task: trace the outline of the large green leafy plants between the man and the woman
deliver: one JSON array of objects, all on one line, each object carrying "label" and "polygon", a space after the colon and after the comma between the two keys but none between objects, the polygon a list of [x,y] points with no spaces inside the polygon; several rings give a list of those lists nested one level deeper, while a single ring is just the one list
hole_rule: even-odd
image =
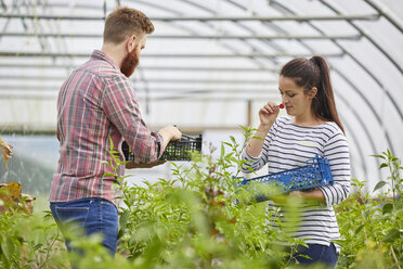
[{"label": "large green leafy plants between the man and the woman", "polygon": [[[246,139],[251,133],[246,129]],[[125,204],[120,214],[119,253],[142,268],[285,268],[292,261],[280,241],[294,246],[301,241],[287,229],[266,228],[264,204],[237,203],[235,189],[243,146],[230,137],[218,159],[193,153],[188,166],[172,163],[174,179],[116,188]],[[112,148],[113,149],[113,148]],[[229,152],[227,152],[229,150]],[[213,149],[210,149],[212,153]],[[110,152],[119,164],[117,156]],[[117,170],[117,169],[115,169]],[[235,171],[235,172],[234,172]],[[112,176],[112,175],[109,175]],[[235,176],[235,177],[234,177]],[[285,203],[294,208],[296,201]],[[294,218],[294,215],[286,216]],[[295,249],[294,249],[295,251]]]}]

